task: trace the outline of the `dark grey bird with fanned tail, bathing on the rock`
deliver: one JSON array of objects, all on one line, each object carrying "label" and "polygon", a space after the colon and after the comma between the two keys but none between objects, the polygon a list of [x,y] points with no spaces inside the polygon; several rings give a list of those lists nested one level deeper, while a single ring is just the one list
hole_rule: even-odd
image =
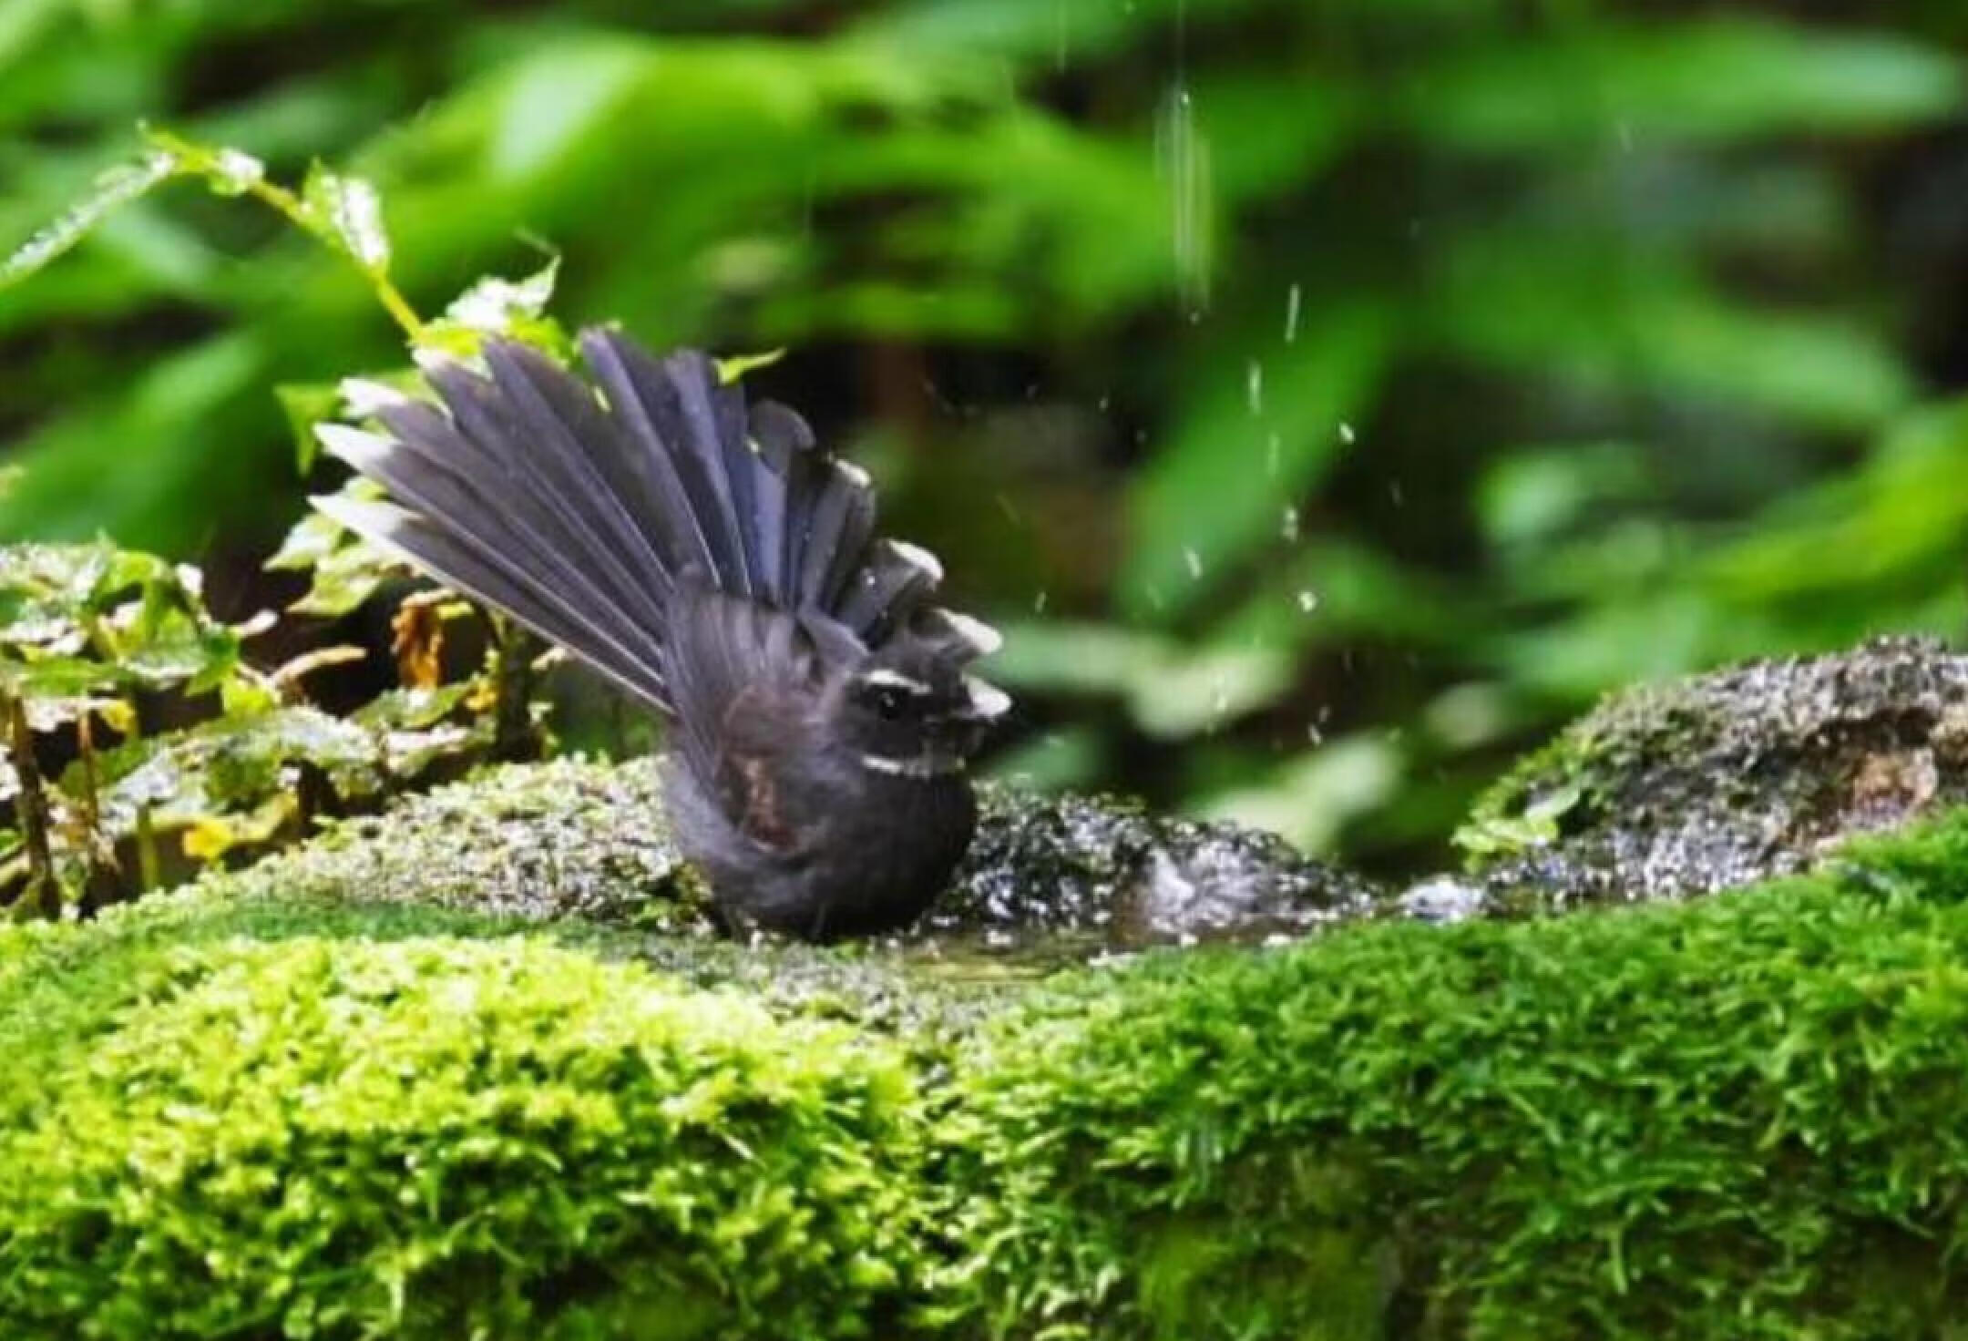
[{"label": "dark grey bird with fanned tail, bathing on the rock", "polygon": [[907,927],[976,827],[1000,634],[937,605],[941,563],[876,534],[868,473],[797,412],[697,349],[577,343],[588,378],[508,339],[419,358],[435,398],[315,427],[386,496],[313,506],[667,721],[669,827],[728,929]]}]

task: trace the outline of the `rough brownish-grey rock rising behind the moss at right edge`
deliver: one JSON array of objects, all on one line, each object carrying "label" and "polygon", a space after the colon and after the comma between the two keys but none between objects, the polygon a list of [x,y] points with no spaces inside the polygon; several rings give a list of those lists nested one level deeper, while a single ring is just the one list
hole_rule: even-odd
[{"label": "rough brownish-grey rock rising behind the moss at right edge", "polygon": [[1460,841],[1480,912],[1555,912],[1797,872],[1962,801],[1968,658],[1879,638],[1618,693],[1492,788]]}]

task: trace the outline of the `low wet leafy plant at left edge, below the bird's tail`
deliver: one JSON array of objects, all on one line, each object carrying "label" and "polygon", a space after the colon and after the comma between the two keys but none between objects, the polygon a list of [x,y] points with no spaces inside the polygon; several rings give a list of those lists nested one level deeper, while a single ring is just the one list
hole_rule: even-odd
[{"label": "low wet leafy plant at left edge, below the bird's tail", "polygon": [[[197,569],[108,542],[0,547],[0,904],[94,906],[492,748],[492,717],[466,711],[474,683],[413,685],[348,721],[297,701],[309,670],[350,650],[258,670],[242,644],[272,622],[216,620]],[[159,703],[177,705],[165,729]],[[49,780],[55,734],[69,762]],[[185,861],[167,868],[161,839]]]}]

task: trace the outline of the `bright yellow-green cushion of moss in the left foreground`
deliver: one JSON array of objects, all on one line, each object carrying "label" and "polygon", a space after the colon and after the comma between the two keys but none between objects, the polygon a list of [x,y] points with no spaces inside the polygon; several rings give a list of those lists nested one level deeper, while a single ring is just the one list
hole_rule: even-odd
[{"label": "bright yellow-green cushion of moss in the left foreground", "polygon": [[901,1284],[909,1079],[840,1026],[527,939],[106,949],[53,1016],[0,969],[10,1333],[834,1337]]}]

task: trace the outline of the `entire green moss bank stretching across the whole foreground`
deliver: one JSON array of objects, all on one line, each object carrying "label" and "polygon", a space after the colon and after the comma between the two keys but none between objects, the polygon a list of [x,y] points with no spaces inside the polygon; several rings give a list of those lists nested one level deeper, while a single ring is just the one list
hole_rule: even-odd
[{"label": "entire green moss bank stretching across the whole foreground", "polygon": [[516,926],[236,878],[0,931],[0,1335],[1915,1341],[1968,1308],[1968,811],[1685,906],[1078,971],[937,1046]]}]

